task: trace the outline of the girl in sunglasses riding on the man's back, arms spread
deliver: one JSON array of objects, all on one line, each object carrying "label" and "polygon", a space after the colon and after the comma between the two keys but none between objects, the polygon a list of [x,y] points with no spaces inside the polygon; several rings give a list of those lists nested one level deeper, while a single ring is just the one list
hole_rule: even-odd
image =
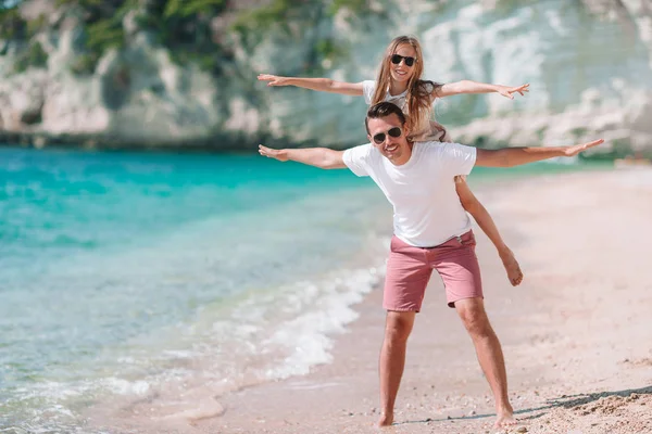
[{"label": "girl in sunglasses riding on the man's back, arms spread", "polygon": [[[486,85],[471,80],[441,85],[422,80],[424,72],[422,49],[414,37],[399,36],[387,47],[385,59],[376,81],[342,82],[328,78],[280,77],[271,74],[260,74],[259,80],[267,81],[267,86],[297,86],[305,89],[364,97],[369,105],[381,101],[397,104],[408,115],[408,126],[412,141],[437,140],[450,142],[447,130],[431,120],[432,105],[437,98],[460,93],[498,92],[503,97],[514,99],[513,93],[524,94],[529,85],[506,87]],[[464,209],[473,216],[480,229],[498,250],[507,278],[512,285],[523,280],[518,261],[512,251],[502,240],[493,219],[473,194],[464,177],[455,177],[455,187]]]}]

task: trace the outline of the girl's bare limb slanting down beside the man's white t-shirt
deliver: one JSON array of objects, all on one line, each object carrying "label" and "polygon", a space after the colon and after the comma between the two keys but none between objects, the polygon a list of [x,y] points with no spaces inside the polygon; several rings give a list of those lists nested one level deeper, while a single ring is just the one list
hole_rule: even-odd
[{"label": "girl's bare limb slanting down beside the man's white t-shirt", "polygon": [[514,253],[512,253],[500,235],[487,208],[485,208],[475,194],[473,194],[463,177],[455,177],[455,189],[464,209],[473,216],[482,232],[487,234],[489,240],[491,240],[496,246],[498,255],[507,271],[510,283],[512,283],[513,286],[521,284],[523,281],[523,272],[521,271],[518,261],[516,260],[516,257],[514,257]]}]

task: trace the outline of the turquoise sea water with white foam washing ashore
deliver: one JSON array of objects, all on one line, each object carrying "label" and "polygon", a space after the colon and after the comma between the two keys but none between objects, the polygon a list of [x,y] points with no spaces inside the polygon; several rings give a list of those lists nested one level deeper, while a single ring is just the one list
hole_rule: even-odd
[{"label": "turquoise sea water with white foam washing ashore", "polygon": [[0,148],[0,432],[90,432],[86,409],[115,396],[218,395],[328,362],[390,230],[348,170]]}]

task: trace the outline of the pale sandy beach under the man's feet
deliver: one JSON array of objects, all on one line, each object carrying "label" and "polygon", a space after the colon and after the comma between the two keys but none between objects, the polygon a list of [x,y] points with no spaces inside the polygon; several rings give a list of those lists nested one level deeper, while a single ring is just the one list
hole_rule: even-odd
[{"label": "pale sandy beach under the man's feet", "polygon": [[[489,240],[475,229],[486,304],[523,422],[510,432],[652,433],[652,169],[472,187],[525,273],[512,288]],[[360,319],[337,336],[333,363],[215,397],[223,413],[193,423],[138,416],[149,414],[148,401],[136,403],[120,412],[130,416],[120,430],[379,432],[380,298],[377,289],[358,306]],[[471,340],[435,277],[409,343],[397,423],[380,432],[500,432],[493,418]]]}]

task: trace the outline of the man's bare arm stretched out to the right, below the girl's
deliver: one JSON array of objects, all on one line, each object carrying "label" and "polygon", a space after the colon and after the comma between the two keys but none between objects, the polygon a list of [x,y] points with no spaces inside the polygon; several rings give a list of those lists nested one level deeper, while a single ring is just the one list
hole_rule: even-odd
[{"label": "man's bare arm stretched out to the right, below the girl's", "polygon": [[513,167],[553,158],[555,156],[575,156],[580,152],[603,142],[604,140],[600,139],[570,146],[503,148],[499,150],[478,149],[476,154],[476,166]]}]

